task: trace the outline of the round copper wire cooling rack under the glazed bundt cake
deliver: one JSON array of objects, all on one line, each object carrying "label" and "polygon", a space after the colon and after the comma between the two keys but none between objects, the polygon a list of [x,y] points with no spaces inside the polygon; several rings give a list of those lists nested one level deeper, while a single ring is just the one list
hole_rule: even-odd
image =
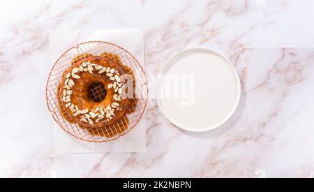
[{"label": "round copper wire cooling rack under the glazed bundt cake", "polygon": [[[59,109],[59,103],[57,99],[57,89],[61,82],[63,72],[68,67],[70,67],[73,59],[77,58],[77,56],[80,55],[82,55],[84,58],[84,55],[87,54],[100,55],[104,52],[110,53],[108,54],[109,57],[111,54],[119,56],[122,63],[133,70],[136,80],[135,94],[137,98],[137,105],[133,106],[134,109],[132,111],[134,112],[127,115],[129,121],[128,128],[126,128],[126,130],[119,135],[114,135],[110,138],[100,136],[108,134],[91,134],[89,133],[89,131],[87,131],[87,129],[80,128],[79,126],[77,126],[77,124],[68,123],[68,121],[66,121],[66,119],[64,119],[61,115],[61,110]],[[116,60],[117,58],[110,57],[110,59]],[[52,117],[57,122],[57,124],[59,124],[59,126],[63,128],[64,131],[66,131],[70,135],[73,135],[75,138],[79,138],[80,140],[85,140],[89,142],[107,142],[110,140],[115,140],[119,138],[119,136],[128,133],[128,131],[134,128],[142,118],[142,115],[147,105],[147,95],[148,87],[146,76],[142,66],[140,66],[135,57],[133,57],[133,55],[130,54],[128,51],[124,50],[124,48],[103,41],[89,41],[85,43],[80,43],[77,46],[72,47],[64,52],[52,67],[46,86],[46,99],[48,109],[50,110],[50,112],[52,112]],[[124,125],[117,124],[113,127],[107,128],[106,131],[111,131],[111,133],[114,133],[114,130],[117,131],[117,129],[123,128],[123,126]],[[100,131],[103,130],[100,129]]]}]

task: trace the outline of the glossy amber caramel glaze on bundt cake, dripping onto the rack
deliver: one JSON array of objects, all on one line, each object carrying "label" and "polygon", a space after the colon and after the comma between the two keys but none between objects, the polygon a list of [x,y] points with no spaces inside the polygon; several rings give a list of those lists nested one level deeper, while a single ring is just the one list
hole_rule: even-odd
[{"label": "glossy amber caramel glaze on bundt cake, dripping onto the rack", "polygon": [[[59,101],[59,109],[61,115],[66,121],[69,123],[76,123],[80,128],[85,128],[91,135],[100,135],[106,138],[112,138],[114,135],[118,135],[126,131],[129,125],[129,119],[126,117],[127,114],[135,112],[137,105],[137,98],[135,98],[135,91],[133,94],[133,98],[126,98],[122,101],[119,101],[120,107],[122,110],[115,111],[114,117],[110,121],[99,121],[93,125],[84,123],[80,121],[79,117],[75,117],[72,115],[72,112],[68,108],[65,107],[65,103],[61,101],[63,85],[66,80],[66,74],[71,72],[73,68],[76,68],[82,64],[83,61],[90,61],[93,64],[98,64],[100,66],[116,68],[120,75],[128,73],[133,77],[133,90],[135,90],[135,77],[131,68],[125,66],[120,57],[116,54],[111,54],[108,52],[103,52],[99,56],[93,56],[92,54],[80,54],[71,62],[71,66],[63,73],[63,77],[61,83],[58,87],[58,101]],[[89,99],[89,90],[88,87],[92,83],[100,83],[107,87],[107,84],[110,83],[109,77],[105,75],[105,73],[98,74],[94,71],[93,74],[89,72],[80,73],[80,79],[74,80],[75,85],[73,86],[73,94],[71,96],[71,103],[77,105],[80,109],[89,109],[90,111],[96,110],[96,108],[103,106],[104,108],[107,105],[111,105],[114,101],[113,99],[113,90],[107,89],[107,94],[105,99],[100,102],[94,102]],[[127,92],[128,90],[126,90]]]}]

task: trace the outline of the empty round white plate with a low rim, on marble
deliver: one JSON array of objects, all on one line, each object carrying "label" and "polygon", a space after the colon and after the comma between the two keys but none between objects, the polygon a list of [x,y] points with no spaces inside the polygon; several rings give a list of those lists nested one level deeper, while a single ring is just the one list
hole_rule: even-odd
[{"label": "empty round white plate with a low rim, on marble", "polygon": [[209,131],[225,123],[239,104],[241,84],[233,64],[208,48],[174,54],[160,70],[158,105],[172,124]]}]

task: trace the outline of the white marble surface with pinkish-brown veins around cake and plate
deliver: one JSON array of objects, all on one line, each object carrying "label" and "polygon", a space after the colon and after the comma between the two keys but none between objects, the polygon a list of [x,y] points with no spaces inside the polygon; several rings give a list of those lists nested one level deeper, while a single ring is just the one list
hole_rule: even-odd
[{"label": "white marble surface with pinkish-brown veins around cake and plate", "polygon": [[[314,1],[1,0],[0,10],[1,177],[313,177]],[[174,52],[223,52],[243,86],[232,119],[186,133],[152,98],[147,152],[56,154],[45,103],[48,34],[114,28],[144,29],[151,95]]]}]

